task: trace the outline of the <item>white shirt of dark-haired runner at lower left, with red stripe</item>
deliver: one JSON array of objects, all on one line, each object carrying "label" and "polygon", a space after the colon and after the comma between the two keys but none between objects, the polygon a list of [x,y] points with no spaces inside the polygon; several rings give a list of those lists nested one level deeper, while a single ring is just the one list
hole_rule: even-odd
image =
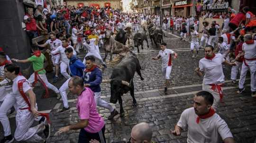
[{"label": "white shirt of dark-haired runner at lower left, with red stripe", "polygon": [[[18,104],[18,108],[27,108],[28,107],[27,102],[23,99],[23,97],[21,96],[21,94],[19,93],[19,90],[18,90],[18,81],[22,80],[22,79],[26,79],[26,78],[24,76],[17,76],[12,80],[13,81],[12,91],[13,91],[13,96],[15,97],[16,102]],[[27,79],[26,79],[26,81],[27,81]],[[23,83],[23,92],[26,93],[29,89],[31,89],[31,87],[29,86],[28,81],[24,82]]]}]

